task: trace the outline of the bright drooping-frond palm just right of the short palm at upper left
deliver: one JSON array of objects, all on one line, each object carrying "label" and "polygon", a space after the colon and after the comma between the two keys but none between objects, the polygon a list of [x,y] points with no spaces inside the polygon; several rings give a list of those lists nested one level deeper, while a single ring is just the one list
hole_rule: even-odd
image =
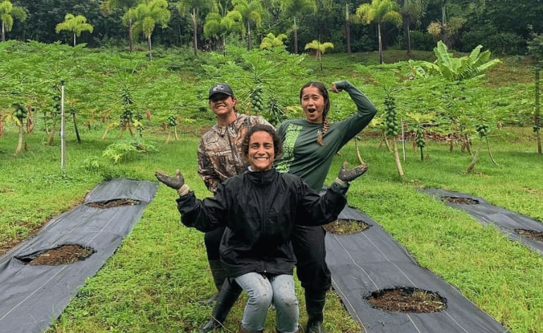
[{"label": "bright drooping-frond palm just right of the short palm at upper left", "polygon": [[171,19],[171,13],[168,10],[168,1],[166,0],[151,0],[148,2],[142,2],[133,10],[130,9],[126,13],[126,19],[134,20],[134,29],[138,32],[143,32],[145,38],[147,38],[147,45],[149,46],[149,60],[153,60],[152,56],[152,43],[151,34],[154,30],[154,26],[161,25],[164,29],[168,27],[168,23]]}]

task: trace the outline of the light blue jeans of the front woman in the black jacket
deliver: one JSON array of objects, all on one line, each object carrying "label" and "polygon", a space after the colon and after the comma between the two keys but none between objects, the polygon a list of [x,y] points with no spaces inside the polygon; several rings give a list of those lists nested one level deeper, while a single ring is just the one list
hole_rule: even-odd
[{"label": "light blue jeans of the front woman in the black jacket", "polygon": [[298,330],[300,310],[292,275],[266,277],[260,273],[250,272],[236,277],[236,282],[248,296],[241,320],[244,329],[249,332],[262,331],[268,308],[273,302],[277,314],[277,331],[294,333]]}]

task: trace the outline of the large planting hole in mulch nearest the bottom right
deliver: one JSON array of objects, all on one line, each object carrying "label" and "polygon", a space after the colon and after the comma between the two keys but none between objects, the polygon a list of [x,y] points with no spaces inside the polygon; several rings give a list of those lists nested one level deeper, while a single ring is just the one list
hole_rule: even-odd
[{"label": "large planting hole in mulch nearest the bottom right", "polygon": [[437,292],[413,287],[382,289],[365,299],[373,308],[401,313],[432,313],[447,307],[446,299]]}]

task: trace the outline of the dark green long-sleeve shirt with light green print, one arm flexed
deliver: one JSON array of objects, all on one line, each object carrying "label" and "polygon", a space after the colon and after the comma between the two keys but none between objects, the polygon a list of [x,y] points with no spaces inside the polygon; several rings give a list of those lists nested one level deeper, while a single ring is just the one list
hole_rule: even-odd
[{"label": "dark green long-sleeve shirt with light green print, one arm flexed", "polygon": [[377,113],[373,103],[350,82],[338,81],[336,87],[349,94],[357,112],[330,125],[322,137],[324,146],[317,143],[322,124],[313,124],[305,119],[286,120],[277,130],[283,141],[283,155],[276,163],[276,169],[302,177],[315,191],[322,189],[334,155]]}]

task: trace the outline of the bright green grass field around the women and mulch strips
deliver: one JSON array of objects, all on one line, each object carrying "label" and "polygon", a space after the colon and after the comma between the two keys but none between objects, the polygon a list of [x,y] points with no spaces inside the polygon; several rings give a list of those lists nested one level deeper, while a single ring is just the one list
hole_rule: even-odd
[{"label": "bright green grass field around the women and mulch strips", "polygon": [[[315,70],[315,80],[330,82],[331,77],[348,77],[353,74],[348,63],[360,56],[325,57],[324,68],[330,68],[331,73]],[[368,61],[374,61],[374,55],[369,56],[372,58]],[[317,68],[317,63],[312,63],[315,59],[307,61],[311,61],[308,66]],[[507,77],[506,82],[529,82],[527,65],[503,66],[496,72]],[[489,79],[495,87],[507,85],[499,75]],[[156,151],[128,153],[119,163],[102,154],[111,144],[130,144],[128,133],[119,140],[118,131],[111,130],[102,139],[104,127],[84,127],[82,142],[78,143],[73,128],[68,128],[66,168],[62,170],[58,137],[47,146],[44,142],[48,135],[37,128],[25,137],[28,150],[14,156],[17,133],[13,125],[6,125],[0,137],[0,251],[4,253],[49,218],[83,201],[87,191],[104,179],[154,180],[154,170],[173,172],[179,168],[197,196],[208,196],[196,173],[197,142],[207,126],[209,122],[185,124],[178,129],[180,139],[171,139],[169,144],[166,132],[147,130],[143,142]],[[509,241],[496,227],[483,227],[467,213],[418,191],[437,187],[473,194],[542,222],[543,156],[536,153],[531,126],[492,130],[489,142],[499,165],[494,165],[483,149],[475,172],[469,174],[465,169],[472,156],[461,152],[459,146],[449,151],[445,142],[428,142],[427,158],[420,161],[418,151],[413,151],[408,142],[403,161],[405,182],[398,177],[393,154],[374,131],[362,135],[360,153],[370,169],[353,182],[348,194],[350,205],[379,222],[422,267],[458,287],[512,333],[543,332],[542,256]],[[357,163],[353,143],[336,156],[327,183],[334,179],[343,160]],[[181,225],[175,198],[174,191],[159,187],[133,231],[98,274],[87,280],[49,333],[197,331],[211,312],[197,300],[212,294],[214,287],[203,236]],[[298,295],[300,319],[305,323],[299,285]],[[244,303],[245,298],[240,299],[228,316],[228,332],[237,332]],[[325,317],[329,333],[360,332],[333,291],[327,296]],[[274,332],[274,320],[271,311],[267,332]]]}]

